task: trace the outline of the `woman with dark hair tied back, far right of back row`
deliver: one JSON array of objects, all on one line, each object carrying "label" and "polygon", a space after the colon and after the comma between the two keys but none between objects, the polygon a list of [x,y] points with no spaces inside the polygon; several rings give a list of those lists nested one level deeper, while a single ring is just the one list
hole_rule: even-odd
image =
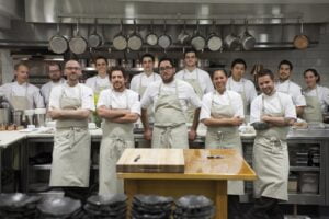
[{"label": "woman with dark hair tied back, far right of back row", "polygon": [[306,100],[303,118],[306,122],[321,123],[322,114],[327,113],[329,105],[329,89],[319,85],[320,74],[316,69],[305,70],[304,80],[307,88],[303,92]]}]

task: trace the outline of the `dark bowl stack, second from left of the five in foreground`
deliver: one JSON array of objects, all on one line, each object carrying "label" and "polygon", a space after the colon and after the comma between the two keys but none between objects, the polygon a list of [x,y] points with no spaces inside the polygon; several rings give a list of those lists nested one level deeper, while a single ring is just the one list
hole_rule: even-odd
[{"label": "dark bowl stack, second from left of the five in foreground", "polygon": [[84,219],[81,201],[69,197],[49,197],[37,205],[42,219]]}]

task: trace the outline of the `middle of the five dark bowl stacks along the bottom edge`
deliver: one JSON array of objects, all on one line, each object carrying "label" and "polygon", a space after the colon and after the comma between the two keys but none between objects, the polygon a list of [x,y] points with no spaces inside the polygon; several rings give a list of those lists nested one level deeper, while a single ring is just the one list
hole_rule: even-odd
[{"label": "middle of the five dark bowl stacks along the bottom edge", "polygon": [[124,194],[94,195],[87,199],[83,209],[92,219],[125,219],[127,196]]}]

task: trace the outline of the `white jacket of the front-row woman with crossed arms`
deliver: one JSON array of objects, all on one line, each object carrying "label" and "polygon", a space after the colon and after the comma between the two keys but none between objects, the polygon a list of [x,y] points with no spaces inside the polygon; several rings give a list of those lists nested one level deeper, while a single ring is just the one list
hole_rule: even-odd
[{"label": "white jacket of the front-row woman with crossed arms", "polygon": [[245,117],[241,95],[235,91],[226,90],[223,94],[209,92],[203,96],[200,120],[212,117],[213,101],[215,105],[231,105],[235,112],[234,116]]}]

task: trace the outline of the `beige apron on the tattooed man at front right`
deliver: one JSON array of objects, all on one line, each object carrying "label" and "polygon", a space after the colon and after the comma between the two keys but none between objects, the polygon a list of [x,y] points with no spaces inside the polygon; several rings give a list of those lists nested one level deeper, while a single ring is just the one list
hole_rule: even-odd
[{"label": "beige apron on the tattooed man at front right", "polygon": [[[274,95],[277,96],[277,93]],[[281,113],[272,113],[270,115],[284,116],[281,101],[280,105]],[[262,114],[264,113],[264,97],[262,96]],[[258,175],[258,180],[253,183],[253,193],[257,198],[264,196],[281,200],[288,199],[290,161],[286,143],[287,132],[288,127],[277,126],[257,131],[252,153],[252,165]]]}]

